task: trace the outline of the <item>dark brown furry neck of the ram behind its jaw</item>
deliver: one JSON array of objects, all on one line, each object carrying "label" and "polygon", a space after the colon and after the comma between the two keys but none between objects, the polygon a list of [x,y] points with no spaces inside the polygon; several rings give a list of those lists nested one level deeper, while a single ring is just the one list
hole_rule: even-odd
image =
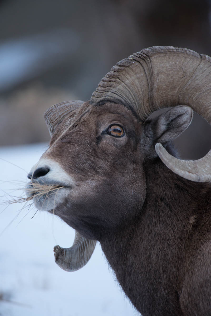
[{"label": "dark brown furry neck of the ram behind its jaw", "polygon": [[148,164],[146,176],[147,196],[139,217],[109,231],[101,246],[143,316],[182,315],[178,298],[184,253],[201,210],[208,207],[204,201],[210,187],[178,177],[161,162]]}]

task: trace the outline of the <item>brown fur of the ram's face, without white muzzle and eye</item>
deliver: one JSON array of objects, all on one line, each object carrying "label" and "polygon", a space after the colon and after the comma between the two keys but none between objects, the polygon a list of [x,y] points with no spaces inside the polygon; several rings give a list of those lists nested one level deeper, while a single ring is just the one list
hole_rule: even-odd
[{"label": "brown fur of the ram's face, without white muzzle and eye", "polygon": [[[85,237],[100,240],[102,229],[134,218],[144,203],[143,127],[115,104],[86,102],[73,114],[57,125],[43,158],[55,160],[75,182],[55,214]],[[122,137],[107,133],[113,124],[124,129]]]}]

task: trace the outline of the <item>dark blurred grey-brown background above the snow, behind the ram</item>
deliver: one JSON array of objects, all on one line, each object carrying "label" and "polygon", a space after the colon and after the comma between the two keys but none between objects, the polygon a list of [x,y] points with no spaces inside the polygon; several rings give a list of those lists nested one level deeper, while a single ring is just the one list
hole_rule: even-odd
[{"label": "dark blurred grey-brown background above the snow, behind the ram", "polygon": [[[172,45],[211,55],[209,0],[1,0],[0,146],[49,140],[44,111],[88,100],[119,60]],[[178,144],[197,159],[211,148],[195,115]]]}]

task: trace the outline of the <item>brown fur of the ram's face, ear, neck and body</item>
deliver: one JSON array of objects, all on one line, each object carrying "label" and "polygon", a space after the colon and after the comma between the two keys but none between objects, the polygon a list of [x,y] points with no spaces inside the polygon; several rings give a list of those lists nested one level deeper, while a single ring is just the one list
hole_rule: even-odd
[{"label": "brown fur of the ram's face, ear, neck and body", "polygon": [[[175,153],[169,141],[191,120],[184,107],[170,111],[144,124],[112,103],[86,102],[69,114],[44,154],[76,183],[54,211],[99,240],[143,316],[211,315],[210,184],[183,179],[158,158],[155,143]],[[107,134],[112,123],[124,137]]]}]

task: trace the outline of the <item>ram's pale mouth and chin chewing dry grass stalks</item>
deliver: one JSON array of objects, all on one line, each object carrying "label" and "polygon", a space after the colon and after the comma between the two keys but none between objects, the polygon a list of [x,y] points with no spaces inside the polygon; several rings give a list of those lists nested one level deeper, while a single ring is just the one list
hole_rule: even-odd
[{"label": "ram's pale mouth and chin chewing dry grass stalks", "polygon": [[33,200],[39,210],[54,209],[67,196],[71,188],[64,183],[30,181],[26,186],[28,200]]}]

